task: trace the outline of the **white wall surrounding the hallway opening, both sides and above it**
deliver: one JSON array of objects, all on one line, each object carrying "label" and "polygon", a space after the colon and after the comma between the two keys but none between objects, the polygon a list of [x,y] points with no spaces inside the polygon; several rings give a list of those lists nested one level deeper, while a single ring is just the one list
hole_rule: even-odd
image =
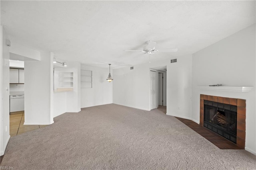
[{"label": "white wall surrounding the hallway opening, both sides and above it", "polygon": [[190,118],[192,56],[170,59],[114,69],[113,103],[150,110],[150,68],[167,65],[166,114]]}]

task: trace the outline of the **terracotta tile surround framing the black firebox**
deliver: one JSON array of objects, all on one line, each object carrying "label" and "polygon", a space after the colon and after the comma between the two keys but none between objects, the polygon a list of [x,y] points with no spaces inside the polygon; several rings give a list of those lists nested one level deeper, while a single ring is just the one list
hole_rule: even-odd
[{"label": "terracotta tile surround framing the black firebox", "polygon": [[204,126],[204,100],[209,100],[209,101],[213,101],[213,102],[237,106],[236,145],[238,147],[240,147],[241,149],[244,149],[244,147],[245,147],[246,100],[200,94],[200,125],[201,126]]}]

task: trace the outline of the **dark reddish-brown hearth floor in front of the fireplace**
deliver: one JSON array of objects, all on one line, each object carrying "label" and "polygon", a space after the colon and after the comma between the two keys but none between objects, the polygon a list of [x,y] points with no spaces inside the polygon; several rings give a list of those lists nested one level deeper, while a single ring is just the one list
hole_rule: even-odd
[{"label": "dark reddish-brown hearth floor in front of the fireplace", "polygon": [[218,135],[217,133],[214,133],[213,131],[210,131],[206,127],[198,125],[192,120],[182,119],[179,117],[176,118],[220,149],[241,149],[238,146],[236,146],[235,143]]}]

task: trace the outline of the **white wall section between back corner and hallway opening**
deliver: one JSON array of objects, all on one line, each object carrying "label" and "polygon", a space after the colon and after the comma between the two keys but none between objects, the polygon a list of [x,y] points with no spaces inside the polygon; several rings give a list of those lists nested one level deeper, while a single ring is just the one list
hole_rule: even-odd
[{"label": "white wall section between back corner and hallway opening", "polygon": [[114,104],[150,110],[149,64],[114,69],[112,77]]}]

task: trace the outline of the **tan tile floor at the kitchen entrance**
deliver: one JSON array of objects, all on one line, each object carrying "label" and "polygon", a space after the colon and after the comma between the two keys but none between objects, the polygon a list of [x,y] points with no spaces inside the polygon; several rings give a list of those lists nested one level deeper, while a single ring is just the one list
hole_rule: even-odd
[{"label": "tan tile floor at the kitchen entrance", "polygon": [[47,125],[23,125],[24,113],[10,115],[10,136],[20,135],[28,131],[39,129]]}]

